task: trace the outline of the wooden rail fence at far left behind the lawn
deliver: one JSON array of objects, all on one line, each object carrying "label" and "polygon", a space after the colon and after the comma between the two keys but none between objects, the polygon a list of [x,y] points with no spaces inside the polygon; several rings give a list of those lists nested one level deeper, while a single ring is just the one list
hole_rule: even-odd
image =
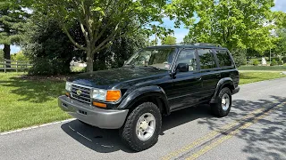
[{"label": "wooden rail fence at far left behind the lawn", "polygon": [[[1,68],[3,65],[3,68]],[[9,68],[10,66],[10,68]],[[29,64],[29,61],[21,61],[21,60],[6,60],[0,61],[0,70],[4,70],[4,73],[6,73],[6,70],[22,70],[26,71],[31,64]]]}]

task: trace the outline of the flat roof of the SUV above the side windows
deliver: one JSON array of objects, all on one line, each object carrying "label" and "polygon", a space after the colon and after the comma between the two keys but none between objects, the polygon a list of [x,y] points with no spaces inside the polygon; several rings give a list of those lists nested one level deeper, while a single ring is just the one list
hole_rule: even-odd
[{"label": "flat roof of the SUV above the side windows", "polygon": [[148,46],[147,48],[169,48],[169,47],[175,47],[175,48],[214,48],[214,49],[221,49],[221,50],[227,50],[227,48],[224,48],[218,44],[170,44],[170,45],[156,45],[156,46]]}]

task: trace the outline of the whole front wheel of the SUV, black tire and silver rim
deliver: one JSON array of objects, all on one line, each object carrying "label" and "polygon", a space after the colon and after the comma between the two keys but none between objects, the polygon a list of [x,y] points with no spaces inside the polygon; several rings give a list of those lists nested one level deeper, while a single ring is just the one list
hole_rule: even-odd
[{"label": "whole front wheel of the SUV, black tire and silver rim", "polygon": [[161,126],[160,109],[152,102],[144,102],[130,113],[120,135],[130,148],[141,151],[156,144]]}]

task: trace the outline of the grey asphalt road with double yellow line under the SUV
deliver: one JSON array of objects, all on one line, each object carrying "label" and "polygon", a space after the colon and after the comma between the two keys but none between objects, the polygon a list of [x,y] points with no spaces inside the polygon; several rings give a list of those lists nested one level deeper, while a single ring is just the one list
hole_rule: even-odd
[{"label": "grey asphalt road with double yellow line under the SUV", "polygon": [[135,153],[117,130],[77,120],[0,136],[0,159],[286,159],[286,78],[246,84],[231,113],[202,105],[163,119],[156,146]]}]

